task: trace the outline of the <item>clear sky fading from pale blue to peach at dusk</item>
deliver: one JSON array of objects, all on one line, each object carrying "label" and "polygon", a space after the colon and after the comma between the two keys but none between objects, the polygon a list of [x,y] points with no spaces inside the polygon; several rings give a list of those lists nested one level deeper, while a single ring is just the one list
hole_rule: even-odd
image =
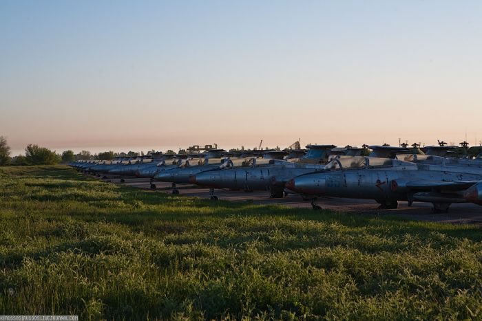
[{"label": "clear sky fading from pale blue to peach at dusk", "polygon": [[482,1],[0,1],[14,153],[482,140]]}]

